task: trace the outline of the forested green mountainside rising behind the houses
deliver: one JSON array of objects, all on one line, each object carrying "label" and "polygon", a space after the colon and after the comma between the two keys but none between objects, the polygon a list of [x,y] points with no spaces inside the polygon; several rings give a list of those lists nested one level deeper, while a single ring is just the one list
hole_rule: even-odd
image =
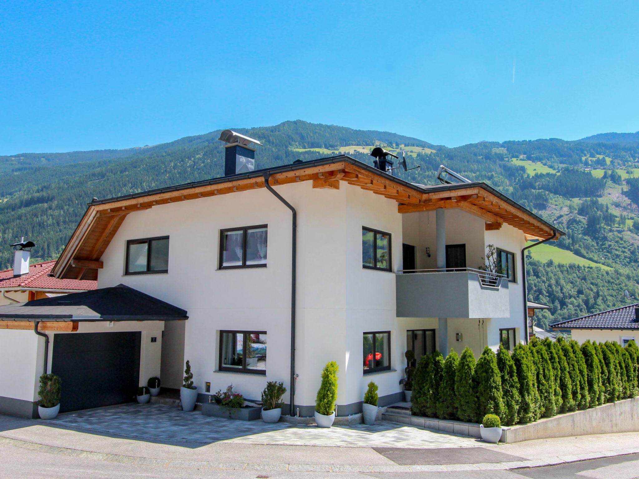
[{"label": "forested green mountainside rising behind the houses", "polygon": [[[622,142],[604,136],[567,142],[480,142],[458,148],[434,146],[389,132],[286,121],[259,128],[237,128],[264,146],[258,168],[348,152],[371,162],[365,152],[376,144],[404,146],[411,162],[422,168],[402,172],[416,183],[435,183],[440,164],[477,181],[486,181],[567,232],[553,243],[592,264],[577,266],[535,259],[528,261],[530,298],[548,303],[539,325],[624,304],[624,289],[638,297],[639,142],[632,134]],[[174,142],[127,150],[73,153],[29,153],[0,157],[0,242],[20,236],[33,239],[42,259],[57,257],[87,202],[214,178],[222,174],[224,151],[219,131]],[[0,248],[0,266],[11,261]],[[590,263],[589,263],[590,264]]]}]

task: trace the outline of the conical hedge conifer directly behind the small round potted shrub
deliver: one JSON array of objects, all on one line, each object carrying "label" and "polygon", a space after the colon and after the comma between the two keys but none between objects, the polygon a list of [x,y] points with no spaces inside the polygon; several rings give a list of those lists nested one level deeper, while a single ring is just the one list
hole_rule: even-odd
[{"label": "conical hedge conifer directly behind the small round potted shrub", "polygon": [[477,416],[485,414],[504,414],[502,399],[502,375],[497,368],[497,356],[488,346],[484,347],[475,366],[475,384],[477,385]]}]

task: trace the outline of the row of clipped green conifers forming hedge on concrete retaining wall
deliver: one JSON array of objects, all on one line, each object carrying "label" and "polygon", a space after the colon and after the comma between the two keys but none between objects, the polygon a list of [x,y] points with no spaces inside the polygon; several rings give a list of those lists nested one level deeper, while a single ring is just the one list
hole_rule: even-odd
[{"label": "row of clipped green conifers forming hedge on concrete retaining wall", "polygon": [[466,347],[422,356],[415,369],[413,414],[479,422],[497,415],[506,425],[533,422],[639,393],[639,347],[557,338],[518,344],[512,353]]}]

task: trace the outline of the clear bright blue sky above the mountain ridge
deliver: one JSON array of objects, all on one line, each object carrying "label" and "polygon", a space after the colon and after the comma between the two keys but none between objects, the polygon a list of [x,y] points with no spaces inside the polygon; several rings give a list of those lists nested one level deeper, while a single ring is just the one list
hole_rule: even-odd
[{"label": "clear bright blue sky above the mountain ridge", "polygon": [[7,1],[0,154],[287,119],[448,146],[635,132],[637,19],[637,1]]}]

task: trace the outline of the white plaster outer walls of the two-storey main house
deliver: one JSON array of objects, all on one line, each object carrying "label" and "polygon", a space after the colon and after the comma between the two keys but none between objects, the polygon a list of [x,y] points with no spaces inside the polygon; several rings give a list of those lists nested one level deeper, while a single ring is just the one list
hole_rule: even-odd
[{"label": "white plaster outer walls of the two-storey main house", "polygon": [[[394,200],[357,186],[340,186],[339,190],[314,189],[310,181],[275,186],[298,213],[295,404],[302,407],[303,415],[312,414],[321,369],[332,360],[340,368],[340,415],[357,409],[371,379],[380,386],[380,398],[399,399],[406,330],[436,329],[438,323],[436,318],[396,317],[394,274],[402,269],[403,236],[413,234],[416,241],[411,244],[419,246],[419,254],[426,245],[435,258],[434,222],[429,227],[422,221],[415,232],[411,216],[427,213],[400,215]],[[488,243],[513,252],[519,266],[525,244],[521,231],[504,225],[500,231],[485,232],[484,221],[469,213],[446,211],[445,215],[447,243],[466,243],[469,267],[481,264]],[[219,270],[220,229],[261,224],[268,224],[268,266]],[[392,235],[392,272],[362,268],[362,227]],[[125,275],[127,240],[155,236],[169,236],[169,273]],[[249,399],[260,398],[266,381],[283,381],[290,390],[291,212],[270,192],[260,188],[130,213],[101,259],[104,269],[98,273],[98,288],[123,283],[188,312],[189,320],[181,323],[183,333],[181,326],[171,325],[174,346],[162,353],[163,386],[180,387],[183,361],[190,360],[199,392],[204,392],[207,381],[212,392],[233,383]],[[509,288],[510,316],[484,318],[483,329],[477,319],[450,319],[449,347],[461,352],[471,346],[479,355],[482,346],[498,346],[499,328],[516,328],[520,340],[519,270],[518,282]],[[219,371],[220,330],[266,331],[266,377]],[[364,331],[391,331],[389,371],[363,374]],[[464,340],[459,344],[454,337],[462,331]],[[173,336],[181,334],[183,354],[180,340]],[[288,400],[288,394],[284,399]]]}]

